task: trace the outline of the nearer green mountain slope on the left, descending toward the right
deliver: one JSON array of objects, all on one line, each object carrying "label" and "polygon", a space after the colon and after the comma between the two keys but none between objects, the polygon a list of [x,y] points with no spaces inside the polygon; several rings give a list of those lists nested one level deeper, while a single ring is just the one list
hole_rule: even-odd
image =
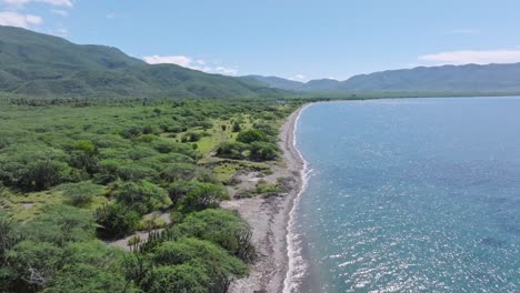
[{"label": "nearer green mountain slope on the left, descending toward the right", "polygon": [[0,26],[0,91],[37,97],[274,95],[250,79],[174,64],[151,65],[104,46],[80,46],[33,31]]}]

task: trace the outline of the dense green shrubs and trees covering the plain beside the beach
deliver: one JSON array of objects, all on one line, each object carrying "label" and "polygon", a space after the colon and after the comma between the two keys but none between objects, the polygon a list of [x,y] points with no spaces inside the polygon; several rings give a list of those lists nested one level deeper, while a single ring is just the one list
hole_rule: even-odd
[{"label": "dense green shrubs and trees covering the plain beside the beach", "polygon": [[254,257],[226,184],[279,164],[299,104],[2,103],[0,292],[226,292]]}]

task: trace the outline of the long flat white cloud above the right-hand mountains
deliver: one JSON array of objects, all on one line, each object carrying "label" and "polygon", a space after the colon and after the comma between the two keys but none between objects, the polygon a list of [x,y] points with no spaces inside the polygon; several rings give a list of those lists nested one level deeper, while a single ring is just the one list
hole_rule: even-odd
[{"label": "long flat white cloud above the right-hand mountains", "polygon": [[489,51],[448,51],[436,54],[420,55],[419,60],[440,64],[489,64],[520,62],[520,50],[489,50]]}]

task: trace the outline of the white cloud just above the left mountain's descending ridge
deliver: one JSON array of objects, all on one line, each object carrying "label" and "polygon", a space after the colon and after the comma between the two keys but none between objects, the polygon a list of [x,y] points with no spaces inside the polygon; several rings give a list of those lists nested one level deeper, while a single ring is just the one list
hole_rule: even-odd
[{"label": "white cloud just above the left mountain's descending ridge", "polygon": [[148,55],[143,57],[142,60],[149,64],[177,64],[193,70],[204,71],[207,73],[217,73],[223,75],[237,75],[239,72],[238,69],[234,68],[208,64],[208,62],[204,60],[193,60],[192,58],[186,55]]}]

